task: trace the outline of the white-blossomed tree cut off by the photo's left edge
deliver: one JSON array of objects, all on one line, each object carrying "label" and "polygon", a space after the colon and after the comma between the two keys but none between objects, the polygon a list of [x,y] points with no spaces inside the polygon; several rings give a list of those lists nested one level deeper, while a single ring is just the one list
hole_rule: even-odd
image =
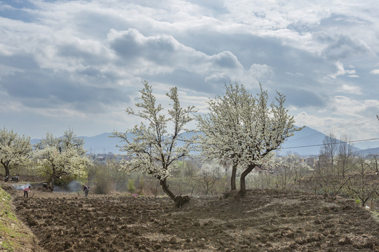
[{"label": "white-blossomed tree cut off by the photo's left edge", "polygon": [[20,136],[4,127],[0,130],[0,163],[5,169],[5,176],[16,165],[28,160],[32,153],[30,137]]}]

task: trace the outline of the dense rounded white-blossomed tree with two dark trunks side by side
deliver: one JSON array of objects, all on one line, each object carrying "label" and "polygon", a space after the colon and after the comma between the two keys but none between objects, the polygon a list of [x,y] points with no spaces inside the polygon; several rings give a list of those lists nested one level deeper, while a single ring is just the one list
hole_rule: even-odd
[{"label": "dense rounded white-blossomed tree with two dark trunks side by side", "polygon": [[204,132],[201,149],[207,158],[232,160],[232,190],[237,168],[242,169],[239,193],[244,195],[246,176],[301,128],[295,127],[293,116],[288,115],[283,94],[277,92],[275,102],[268,105],[262,85],[255,97],[244,85],[225,87],[223,97],[208,101],[208,114],[198,117],[199,130]]}]

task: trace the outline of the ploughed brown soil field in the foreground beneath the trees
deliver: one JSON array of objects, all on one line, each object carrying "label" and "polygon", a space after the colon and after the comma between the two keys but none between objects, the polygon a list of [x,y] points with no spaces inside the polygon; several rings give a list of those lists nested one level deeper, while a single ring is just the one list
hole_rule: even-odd
[{"label": "ploughed brown soil field in the foreground beneath the trees", "polygon": [[279,190],[168,198],[34,192],[13,203],[46,251],[379,251],[379,223],[352,200]]}]

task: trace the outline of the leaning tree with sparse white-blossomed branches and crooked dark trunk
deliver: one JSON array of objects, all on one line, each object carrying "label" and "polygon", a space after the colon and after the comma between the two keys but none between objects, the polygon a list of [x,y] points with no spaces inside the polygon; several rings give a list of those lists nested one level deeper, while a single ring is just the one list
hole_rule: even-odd
[{"label": "leaning tree with sparse white-blossomed branches and crooked dark trunk", "polygon": [[[113,137],[119,137],[124,141],[124,146],[119,146],[120,151],[124,151],[128,160],[122,166],[126,172],[139,171],[141,173],[152,174],[159,179],[162,190],[177,206],[189,200],[188,197],[176,196],[169,188],[167,179],[172,176],[172,171],[177,165],[177,160],[188,156],[194,149],[196,136],[187,138],[185,133],[191,132],[185,125],[192,120],[190,114],[194,112],[193,106],[187,108],[180,107],[178,98],[178,88],[171,87],[166,93],[171,99],[172,108],[168,110],[168,117],[163,112],[161,104],[156,104],[152,87],[145,81],[144,87],[140,90],[140,100],[135,104],[138,111],[126,109],[126,113],[138,116],[145,121],[140,125],[135,125],[133,129],[125,133],[114,132]],[[169,132],[171,131],[171,132]],[[133,137],[130,137],[130,133]],[[179,146],[179,142],[182,145]]]}]

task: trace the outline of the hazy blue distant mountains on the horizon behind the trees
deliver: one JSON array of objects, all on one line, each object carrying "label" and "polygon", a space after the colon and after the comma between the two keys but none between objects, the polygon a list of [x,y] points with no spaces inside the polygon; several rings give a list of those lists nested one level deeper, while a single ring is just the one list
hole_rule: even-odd
[{"label": "hazy blue distant mountains on the horizon behind the trees", "polygon": [[[93,137],[80,138],[84,139],[84,148],[88,151],[88,154],[120,154],[121,152],[119,151],[119,148],[117,148],[116,146],[117,144],[123,143],[120,143],[118,138],[113,138],[109,136],[112,136],[112,133],[102,133]],[[305,127],[299,132],[295,132],[295,134],[292,137],[288,138],[284,142],[284,144],[282,144],[281,151],[278,151],[277,153],[280,155],[286,155],[287,153],[297,153],[301,156],[319,155],[319,151],[325,137],[325,134],[317,130],[313,130],[310,127]],[[36,144],[37,141],[39,141],[39,139],[32,139],[32,144]],[[379,147],[369,148],[366,150],[361,150],[356,147],[353,148],[355,151],[364,155],[370,153],[379,154]]]}]

